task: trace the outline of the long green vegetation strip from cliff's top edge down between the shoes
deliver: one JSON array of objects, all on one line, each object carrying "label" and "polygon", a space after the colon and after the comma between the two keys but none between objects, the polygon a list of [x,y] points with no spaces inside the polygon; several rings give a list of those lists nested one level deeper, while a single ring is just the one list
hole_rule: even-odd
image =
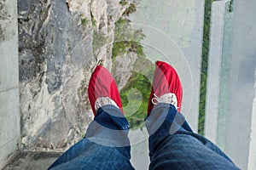
[{"label": "long green vegetation strip from cliff's top edge down between the shoes", "polygon": [[[114,42],[112,49],[113,69],[115,59],[126,54],[137,54],[137,59],[131,71],[131,77],[120,90],[120,98],[125,111],[125,116],[131,128],[141,127],[148,109],[148,97],[151,92],[151,82],[148,77],[153,77],[154,64],[146,59],[141,44],[145,35],[142,30],[131,28],[131,21],[125,16],[136,11],[134,3],[125,10],[123,16],[115,22]],[[135,56],[136,57],[136,56]],[[121,70],[121,68],[119,68]],[[119,80],[116,80],[119,82]]]}]

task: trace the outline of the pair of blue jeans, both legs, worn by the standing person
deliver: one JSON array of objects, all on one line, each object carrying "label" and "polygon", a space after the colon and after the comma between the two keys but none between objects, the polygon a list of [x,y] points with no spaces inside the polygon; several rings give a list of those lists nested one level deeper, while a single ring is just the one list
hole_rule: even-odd
[{"label": "pair of blue jeans, both legs, worn by the standing person", "polygon": [[[238,169],[215,144],[193,133],[173,105],[156,105],[145,121],[149,169]],[[129,123],[118,108],[102,106],[84,139],[49,169],[134,169],[128,131]]]}]

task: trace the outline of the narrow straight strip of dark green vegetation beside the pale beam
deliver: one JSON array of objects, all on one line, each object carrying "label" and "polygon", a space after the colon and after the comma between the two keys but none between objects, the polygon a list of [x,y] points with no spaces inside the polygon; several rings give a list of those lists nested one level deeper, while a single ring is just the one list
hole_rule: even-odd
[{"label": "narrow straight strip of dark green vegetation beside the pale beam", "polygon": [[207,97],[207,65],[209,54],[210,26],[211,26],[211,8],[212,0],[205,1],[204,15],[204,31],[203,45],[201,56],[201,89],[200,89],[200,104],[199,104],[199,122],[198,133],[204,134],[205,112],[206,112],[206,97]]}]

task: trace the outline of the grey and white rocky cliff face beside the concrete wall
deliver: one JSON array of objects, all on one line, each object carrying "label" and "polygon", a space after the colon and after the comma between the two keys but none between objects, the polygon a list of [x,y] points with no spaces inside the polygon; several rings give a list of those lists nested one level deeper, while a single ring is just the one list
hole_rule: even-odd
[{"label": "grey and white rocky cliff face beside the concrete wall", "polygon": [[[18,0],[21,148],[67,150],[92,120],[98,64],[111,70],[118,0]],[[108,45],[105,45],[108,44]]]}]

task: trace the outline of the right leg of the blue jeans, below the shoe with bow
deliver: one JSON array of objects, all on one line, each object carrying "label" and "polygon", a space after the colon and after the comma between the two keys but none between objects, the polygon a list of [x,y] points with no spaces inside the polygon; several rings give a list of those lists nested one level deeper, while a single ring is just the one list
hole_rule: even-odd
[{"label": "right leg of the blue jeans, below the shoe with bow", "polygon": [[173,105],[159,104],[146,118],[149,169],[238,169],[215,144],[192,132]]}]

